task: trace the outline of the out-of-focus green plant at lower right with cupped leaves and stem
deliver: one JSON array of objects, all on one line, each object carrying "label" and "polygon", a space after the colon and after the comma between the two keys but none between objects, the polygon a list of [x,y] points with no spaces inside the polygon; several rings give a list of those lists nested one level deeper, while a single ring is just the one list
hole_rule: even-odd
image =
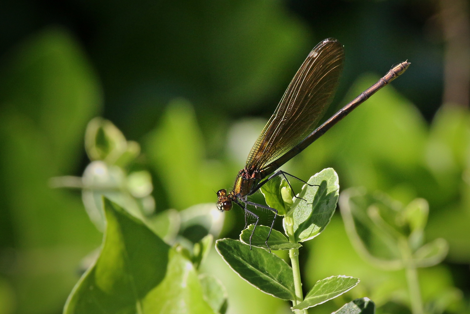
[{"label": "out-of-focus green plant at lower right with cupped leaves and stem", "polygon": [[424,242],[429,206],[422,198],[403,206],[384,193],[349,188],[341,193],[340,208],[353,247],[371,265],[383,270],[405,270],[409,304],[413,314],[442,313],[462,298],[448,288],[423,305],[417,269],[439,264],[447,255],[446,240]]}]

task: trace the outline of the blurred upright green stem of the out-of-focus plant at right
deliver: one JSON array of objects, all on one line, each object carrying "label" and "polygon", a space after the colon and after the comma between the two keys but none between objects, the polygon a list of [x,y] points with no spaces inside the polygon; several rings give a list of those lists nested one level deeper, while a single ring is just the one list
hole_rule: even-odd
[{"label": "blurred upright green stem of the out-of-focus plant at right", "polygon": [[411,312],[413,314],[423,314],[423,301],[421,299],[421,291],[419,288],[418,272],[407,239],[400,239],[400,247],[407,276]]}]

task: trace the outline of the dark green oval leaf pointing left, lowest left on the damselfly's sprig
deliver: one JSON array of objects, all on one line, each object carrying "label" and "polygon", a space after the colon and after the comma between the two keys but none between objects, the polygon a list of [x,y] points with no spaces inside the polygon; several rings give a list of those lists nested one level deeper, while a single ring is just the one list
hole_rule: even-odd
[{"label": "dark green oval leaf pointing left, lowest left on the damselfly's sprig", "polygon": [[241,278],[259,290],[283,300],[294,299],[292,268],[282,258],[232,239],[219,239],[215,248]]}]

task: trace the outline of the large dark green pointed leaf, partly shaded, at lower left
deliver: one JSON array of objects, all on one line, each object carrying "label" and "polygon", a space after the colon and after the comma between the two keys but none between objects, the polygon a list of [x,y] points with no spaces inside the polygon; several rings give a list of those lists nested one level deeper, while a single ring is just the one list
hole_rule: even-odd
[{"label": "large dark green pointed leaf, partly shaded, at lower left", "polygon": [[108,199],[104,211],[100,257],[72,290],[64,314],[139,313],[142,299],[164,278],[169,246]]}]

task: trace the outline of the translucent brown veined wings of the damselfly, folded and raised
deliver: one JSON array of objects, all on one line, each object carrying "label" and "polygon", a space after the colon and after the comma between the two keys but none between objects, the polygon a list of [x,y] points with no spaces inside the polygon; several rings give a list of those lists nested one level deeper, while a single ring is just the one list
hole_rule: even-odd
[{"label": "translucent brown veined wings of the damselfly, folded and raised", "polygon": [[343,45],[333,38],[313,48],[251,148],[245,169],[262,170],[315,129],[333,100],[344,58]]}]

